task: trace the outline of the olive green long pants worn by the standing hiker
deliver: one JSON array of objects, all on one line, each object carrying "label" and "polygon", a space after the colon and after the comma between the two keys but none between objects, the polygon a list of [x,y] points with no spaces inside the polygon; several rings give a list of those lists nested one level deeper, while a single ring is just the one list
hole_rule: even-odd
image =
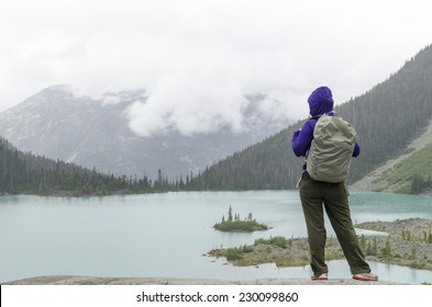
[{"label": "olive green long pants worn by the standing hiker", "polygon": [[346,186],[341,183],[315,181],[309,175],[302,175],[300,200],[303,207],[308,240],[311,255],[311,266],[314,275],[328,273],[325,264],[324,213],[341,243],[343,253],[350,264],[351,273],[369,273],[370,268],[358,245],[353,221],[351,219]]}]

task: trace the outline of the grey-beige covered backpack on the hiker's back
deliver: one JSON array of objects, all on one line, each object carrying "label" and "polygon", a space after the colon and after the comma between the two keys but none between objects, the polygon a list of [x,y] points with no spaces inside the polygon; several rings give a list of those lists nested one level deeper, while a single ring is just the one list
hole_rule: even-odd
[{"label": "grey-beige covered backpack on the hiker's back", "polygon": [[307,156],[307,171],[317,181],[343,182],[348,173],[356,132],[341,117],[320,116]]}]

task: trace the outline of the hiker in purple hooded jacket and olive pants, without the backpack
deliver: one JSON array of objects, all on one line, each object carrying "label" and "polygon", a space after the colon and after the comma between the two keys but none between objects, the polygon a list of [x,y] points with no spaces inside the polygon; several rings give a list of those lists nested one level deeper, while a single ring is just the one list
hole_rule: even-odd
[{"label": "hiker in purple hooded jacket and olive pants, without the backpack", "polygon": [[[311,118],[300,130],[292,135],[292,151],[297,157],[306,157],[313,139],[317,121],[323,114],[334,116],[332,92],[326,87],[320,87],[308,99]],[[359,155],[356,143],[353,157]],[[353,221],[351,219],[345,182],[329,183],[313,180],[306,166],[299,182],[300,200],[303,208],[308,240],[311,254],[312,280],[328,280],[324,249],[326,231],[324,227],[325,209],[330,223],[341,243],[342,250],[350,264],[353,278],[361,281],[377,281],[378,276],[370,273],[370,268],[359,248]]]}]

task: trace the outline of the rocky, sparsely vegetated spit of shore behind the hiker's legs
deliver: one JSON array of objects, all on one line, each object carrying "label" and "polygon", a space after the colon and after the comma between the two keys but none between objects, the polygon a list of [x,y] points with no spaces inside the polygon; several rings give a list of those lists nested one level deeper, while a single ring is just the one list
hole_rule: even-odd
[{"label": "rocky, sparsely vegetated spit of shore behind the hiker's legs", "polygon": [[[432,270],[432,220],[410,218],[395,221],[368,221],[357,229],[379,231],[381,236],[361,236],[359,243],[369,261]],[[277,266],[302,266],[309,263],[307,238],[285,239],[284,245],[262,243],[228,249],[213,249],[208,255],[225,258],[239,266],[275,263]],[[280,239],[280,240],[281,240]],[[279,240],[279,241],[280,241]],[[328,238],[326,260],[343,259],[335,238]]]}]

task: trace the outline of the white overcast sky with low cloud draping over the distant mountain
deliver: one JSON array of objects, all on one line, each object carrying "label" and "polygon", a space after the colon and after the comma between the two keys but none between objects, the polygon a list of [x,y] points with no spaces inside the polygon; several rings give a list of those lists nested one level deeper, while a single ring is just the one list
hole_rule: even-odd
[{"label": "white overcast sky with low cloud draping over the distant mountain", "polygon": [[430,0],[1,0],[0,112],[68,83],[146,89],[130,112],[143,135],[241,129],[254,93],[304,118],[314,88],[345,102],[432,44],[431,12]]}]

